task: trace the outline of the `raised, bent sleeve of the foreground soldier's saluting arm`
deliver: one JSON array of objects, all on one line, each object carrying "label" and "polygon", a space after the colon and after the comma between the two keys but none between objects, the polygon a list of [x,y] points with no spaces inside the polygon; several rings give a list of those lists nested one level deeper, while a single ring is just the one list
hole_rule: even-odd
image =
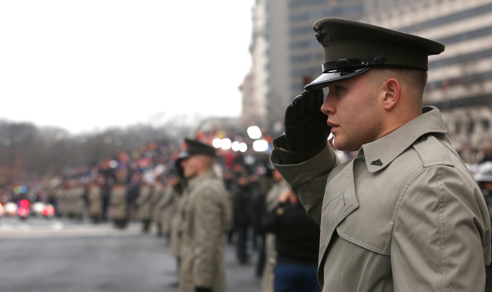
[{"label": "raised, bent sleeve of the foreground soldier's saluting arm", "polygon": [[289,164],[290,156],[294,152],[284,155],[286,153],[287,151],[274,147],[270,161],[299,196],[299,200],[309,217],[320,224],[328,175],[333,168],[340,164],[338,156],[328,143],[314,157],[296,164]]}]

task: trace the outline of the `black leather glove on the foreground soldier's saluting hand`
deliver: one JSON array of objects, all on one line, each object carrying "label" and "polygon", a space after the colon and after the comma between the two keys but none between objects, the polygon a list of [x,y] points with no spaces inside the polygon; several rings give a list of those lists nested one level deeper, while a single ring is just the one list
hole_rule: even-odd
[{"label": "black leather glove on the foreground soldier's saluting hand", "polygon": [[304,90],[285,110],[285,139],[290,150],[306,151],[327,143],[330,127],[328,116],[321,112],[323,96],[323,89]]}]

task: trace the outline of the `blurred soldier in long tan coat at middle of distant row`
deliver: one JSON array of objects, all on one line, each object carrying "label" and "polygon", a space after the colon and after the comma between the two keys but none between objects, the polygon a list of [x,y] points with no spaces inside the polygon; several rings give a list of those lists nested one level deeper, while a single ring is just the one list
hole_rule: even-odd
[{"label": "blurred soldier in long tan coat at middle of distant row", "polygon": [[127,173],[119,170],[109,194],[110,216],[116,228],[127,226]]}]

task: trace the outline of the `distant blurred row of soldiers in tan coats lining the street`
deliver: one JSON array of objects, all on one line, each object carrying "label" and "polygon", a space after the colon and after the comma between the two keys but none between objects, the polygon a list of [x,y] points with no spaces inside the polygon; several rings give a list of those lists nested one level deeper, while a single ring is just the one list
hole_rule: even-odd
[{"label": "distant blurred row of soldiers in tan coats lining the street", "polygon": [[[167,185],[176,185],[178,182],[179,179],[170,175]],[[113,221],[115,227],[125,228],[128,221],[133,219],[129,214],[130,187],[126,172],[116,173],[115,181],[108,192],[104,184],[105,179],[100,176],[87,185],[77,180],[70,180],[59,186],[55,190],[57,215],[80,221],[88,217],[94,223],[107,218]],[[169,234],[174,217],[173,210],[177,208],[176,199],[171,194],[172,189],[173,187],[166,187],[160,177],[153,183],[145,180],[139,182],[134,207],[135,219],[142,222],[143,231],[148,232],[151,223],[154,222],[158,235]],[[164,209],[168,211],[164,213]]]}]

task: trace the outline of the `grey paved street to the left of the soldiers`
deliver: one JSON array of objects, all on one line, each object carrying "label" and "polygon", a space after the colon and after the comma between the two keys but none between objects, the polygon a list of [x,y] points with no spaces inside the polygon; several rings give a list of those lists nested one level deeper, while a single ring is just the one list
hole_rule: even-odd
[{"label": "grey paved street to the left of the soldiers", "polygon": [[[226,247],[230,292],[260,292],[254,265]],[[58,219],[0,219],[0,292],[177,292],[175,260],[163,238]]]}]

